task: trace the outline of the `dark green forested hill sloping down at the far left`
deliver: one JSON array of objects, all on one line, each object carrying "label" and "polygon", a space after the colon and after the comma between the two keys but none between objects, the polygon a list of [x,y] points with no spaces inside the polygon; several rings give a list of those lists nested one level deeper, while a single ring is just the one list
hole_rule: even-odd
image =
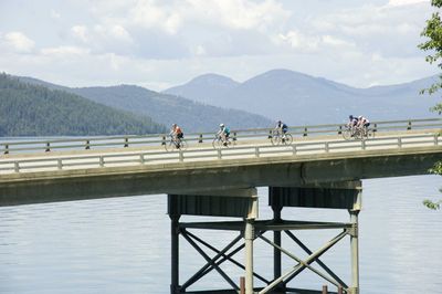
[{"label": "dark green forested hill sloping down at the far left", "polygon": [[164,133],[149,117],[0,74],[0,136],[77,136]]}]

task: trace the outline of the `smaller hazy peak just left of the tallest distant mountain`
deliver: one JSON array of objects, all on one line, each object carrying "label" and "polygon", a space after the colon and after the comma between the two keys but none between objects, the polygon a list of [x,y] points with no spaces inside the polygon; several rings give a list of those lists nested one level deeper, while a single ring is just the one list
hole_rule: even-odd
[{"label": "smaller hazy peak just left of the tallest distant mountain", "polygon": [[[206,104],[223,106],[225,95],[240,83],[219,74],[204,74],[194,77],[189,83],[166,90],[165,94],[190,97]],[[234,105],[232,105],[234,106]]]}]

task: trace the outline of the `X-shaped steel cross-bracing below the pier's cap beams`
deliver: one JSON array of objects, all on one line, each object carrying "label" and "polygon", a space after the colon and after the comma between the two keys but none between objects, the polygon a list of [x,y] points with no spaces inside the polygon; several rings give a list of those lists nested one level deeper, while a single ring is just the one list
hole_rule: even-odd
[{"label": "X-shaped steel cross-bracing below the pier's cap beams", "polygon": [[[245,222],[245,224],[244,224]],[[292,287],[290,287],[287,284],[291,282],[294,277],[296,277],[301,272],[303,272],[305,269],[311,270],[312,272],[318,274],[320,277],[329,282],[330,284],[335,286],[341,286],[345,291],[345,293],[351,293],[351,287],[349,288],[343,280],[340,280],[327,265],[324,264],[319,260],[319,258],[326,253],[329,249],[332,249],[336,243],[338,243],[340,240],[343,240],[347,234],[352,234],[354,233],[354,225],[351,223],[332,223],[332,222],[301,222],[303,224],[299,224],[299,222],[293,222],[293,221],[284,221],[284,220],[278,220],[278,221],[256,221],[255,225],[253,225],[253,220],[248,222],[244,220],[242,222],[242,225],[240,225],[241,222],[222,222],[220,225],[230,228],[230,230],[238,229],[239,234],[229,243],[227,244],[223,249],[217,249],[214,245],[210,244],[209,242],[202,240],[200,237],[198,237],[196,233],[191,232],[190,230],[194,229],[207,229],[207,230],[220,230],[220,228],[217,227],[218,222],[196,222],[196,223],[178,223],[178,234],[181,234],[181,237],[189,242],[189,244],[206,260],[206,264],[198,270],[188,281],[182,283],[182,285],[178,285],[178,283],[172,283],[172,285],[178,285],[172,287],[171,286],[171,293],[177,294],[177,293],[197,293],[189,291],[189,287],[191,287],[196,282],[199,280],[203,279],[208,273],[211,271],[217,271],[220,276],[230,285],[230,290],[218,290],[218,292],[213,293],[230,293],[229,291],[232,291],[231,293],[238,293],[240,291],[238,282],[234,281],[233,279],[229,277],[229,275],[221,270],[220,265],[223,264],[224,262],[229,261],[235,266],[239,266],[240,269],[244,270],[245,277],[246,277],[246,284],[245,288],[250,290],[246,291],[246,294],[253,294],[253,293],[285,293],[288,291],[293,291]],[[313,223],[313,224],[312,224]],[[248,233],[248,225],[251,225],[251,231]],[[311,251],[299,239],[295,237],[295,234],[291,230],[298,230],[302,225],[306,225],[308,229],[343,229],[343,231],[329,240],[327,243],[325,243],[322,248],[319,248],[316,251]],[[241,229],[242,228],[242,229]],[[256,230],[256,231],[255,231]],[[288,235],[291,240],[293,240],[296,244],[298,244],[307,254],[309,254],[305,260],[297,258],[293,253],[288,252],[284,248],[282,248],[281,244],[271,241],[269,238],[264,237],[265,232],[278,232],[278,233],[285,233]],[[246,235],[249,234],[249,235]],[[296,264],[290,269],[290,271],[282,273],[278,276],[274,276],[273,279],[269,280],[264,275],[260,275],[259,273],[255,273],[253,271],[253,248],[246,250],[248,242],[252,243],[249,245],[253,245],[253,241],[255,239],[261,239],[265,243],[272,245],[274,248],[274,251],[277,251],[280,254],[285,254],[292,260],[296,262]],[[244,242],[241,242],[244,240]],[[213,252],[214,255],[210,256],[209,253],[207,253],[203,249],[210,250],[210,252]],[[244,250],[245,249],[245,250]],[[234,255],[238,254],[240,251],[244,250],[245,251],[245,263],[242,264],[240,261],[234,259]],[[173,259],[172,259],[173,260]],[[316,267],[312,266],[311,264],[316,262],[323,270],[324,272],[320,272]],[[178,263],[177,263],[178,265]],[[280,265],[281,266],[281,265]],[[172,264],[173,267],[173,264]],[[275,267],[275,266],[274,266]],[[280,267],[281,269],[281,267]],[[173,271],[172,271],[173,273]],[[249,274],[249,275],[248,275]],[[172,274],[172,281],[178,281],[178,277],[173,277],[175,275]],[[263,288],[255,288],[253,286],[253,281],[254,279],[260,280],[263,282],[266,286]],[[249,283],[249,284],[248,284]],[[175,292],[172,292],[175,291]],[[299,293],[305,292],[306,290],[296,290]],[[210,293],[209,291],[207,293]],[[305,292],[305,293],[314,293],[314,292]],[[318,292],[319,293],[319,292]]]}]

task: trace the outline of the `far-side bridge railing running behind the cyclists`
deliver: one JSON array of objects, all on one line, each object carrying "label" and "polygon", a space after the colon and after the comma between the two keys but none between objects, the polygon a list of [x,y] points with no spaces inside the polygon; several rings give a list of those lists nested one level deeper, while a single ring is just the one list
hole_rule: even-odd
[{"label": "far-side bridge railing running behind the cyclists", "polygon": [[[294,137],[307,137],[317,135],[339,135],[345,129],[345,124],[314,125],[314,126],[291,126],[288,132]],[[441,118],[428,119],[407,119],[392,122],[373,122],[370,126],[373,132],[392,130],[413,130],[442,128]],[[233,140],[248,139],[269,139],[273,128],[235,129],[231,132]],[[192,145],[211,143],[213,133],[193,133],[186,134],[186,140]],[[84,150],[84,149],[104,149],[120,147],[145,147],[160,146],[169,140],[166,134],[155,135],[129,135],[129,136],[99,136],[99,137],[75,137],[60,139],[38,139],[24,141],[7,141],[0,144],[0,154],[11,153],[38,153],[52,150]]]}]

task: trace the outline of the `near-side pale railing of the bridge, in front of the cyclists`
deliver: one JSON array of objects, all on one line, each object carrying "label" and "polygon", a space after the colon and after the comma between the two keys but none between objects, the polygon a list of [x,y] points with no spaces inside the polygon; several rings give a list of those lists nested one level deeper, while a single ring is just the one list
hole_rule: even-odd
[{"label": "near-side pale railing of the bridge, in front of the cyclists", "polygon": [[330,153],[358,153],[364,150],[403,149],[409,147],[432,147],[441,145],[440,134],[382,136],[369,140],[317,140],[296,141],[292,145],[235,146],[234,148],[213,149],[210,147],[165,153],[144,150],[124,154],[104,154],[77,156],[55,156],[43,158],[23,158],[0,160],[0,174],[67,170],[78,168],[104,168],[118,166],[179,164],[204,160],[248,159],[262,157],[314,156]]}]

